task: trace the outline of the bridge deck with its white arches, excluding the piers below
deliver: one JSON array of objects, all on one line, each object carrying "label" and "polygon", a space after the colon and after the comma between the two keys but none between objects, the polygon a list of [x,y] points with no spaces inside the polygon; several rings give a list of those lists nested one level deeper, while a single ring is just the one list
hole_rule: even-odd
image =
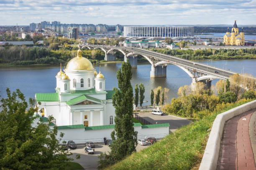
[{"label": "bridge deck with its white arches, excluding the piers below", "polygon": [[[125,57],[129,55],[142,55],[145,57],[153,67],[158,65],[167,66],[169,64],[177,65],[178,67],[182,68],[187,74],[189,74],[192,79],[196,79],[195,81],[200,80],[213,80],[216,78],[219,79],[227,79],[233,74],[237,72],[232,72],[229,70],[224,70],[218,67],[212,67],[209,65],[200,64],[198,62],[185,60],[179,57],[174,57],[171,55],[161,54],[159,52],[153,52],[141,48],[135,47],[113,47],[113,46],[105,46],[105,45],[80,45],[81,47],[89,47],[89,48],[100,48],[105,49],[105,52],[112,51],[112,50],[119,50],[121,51]],[[196,73],[196,75],[195,75]]]}]

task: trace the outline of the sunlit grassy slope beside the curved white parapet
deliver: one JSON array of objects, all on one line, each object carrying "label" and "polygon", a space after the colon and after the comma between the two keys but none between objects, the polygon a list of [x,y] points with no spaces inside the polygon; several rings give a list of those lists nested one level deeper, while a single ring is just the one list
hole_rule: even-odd
[{"label": "sunlit grassy slope beside the curved white parapet", "polygon": [[[248,101],[247,101],[248,102]],[[213,112],[213,115],[193,122],[177,130],[152,145],[119,163],[107,168],[109,170],[189,170],[198,165],[205,150],[209,130],[216,115],[242,105],[245,102],[232,104],[230,107]]]}]

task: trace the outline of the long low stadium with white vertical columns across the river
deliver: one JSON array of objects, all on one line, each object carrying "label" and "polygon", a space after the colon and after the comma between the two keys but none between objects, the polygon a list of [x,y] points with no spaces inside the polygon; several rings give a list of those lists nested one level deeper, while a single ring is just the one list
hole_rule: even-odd
[{"label": "long low stadium with white vertical columns across the river", "polygon": [[193,37],[193,26],[150,27],[124,26],[124,37]]}]

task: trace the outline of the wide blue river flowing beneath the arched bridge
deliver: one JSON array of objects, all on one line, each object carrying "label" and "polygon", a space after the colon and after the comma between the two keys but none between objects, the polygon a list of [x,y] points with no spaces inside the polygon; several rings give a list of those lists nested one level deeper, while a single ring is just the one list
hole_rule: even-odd
[{"label": "wide blue river flowing beneath the arched bridge", "polygon": [[[201,63],[211,65],[211,61],[204,60]],[[117,87],[116,73],[122,63],[105,63],[101,65],[101,72],[106,78],[106,90],[112,90]],[[247,72],[256,76],[256,60],[216,60],[212,61],[212,66],[227,68],[235,72]],[[99,66],[95,66],[99,72]],[[145,86],[145,102],[143,105],[150,105],[150,92],[155,87],[162,86],[169,88],[168,101],[173,97],[177,97],[177,91],[180,86],[190,85],[192,79],[175,65],[167,66],[167,77],[150,78],[151,65],[148,63],[138,64],[137,69],[132,69],[133,77],[131,83],[135,87],[136,83],[143,83]],[[35,97],[35,93],[55,92],[56,78],[59,72],[59,66],[30,66],[30,67],[0,67],[0,96],[6,97],[5,89],[20,89],[26,96]],[[218,80],[212,80],[215,84]],[[134,90],[133,90],[134,92]]]}]

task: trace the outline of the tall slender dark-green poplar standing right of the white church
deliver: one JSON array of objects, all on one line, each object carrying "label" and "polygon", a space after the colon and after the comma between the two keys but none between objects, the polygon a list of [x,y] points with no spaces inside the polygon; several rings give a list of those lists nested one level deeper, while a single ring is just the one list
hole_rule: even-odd
[{"label": "tall slender dark-green poplar standing right of the white church", "polygon": [[131,86],[130,62],[123,62],[117,72],[118,88],[114,87],[115,130],[111,133],[113,143],[109,154],[101,153],[98,168],[105,168],[136,152],[137,134],[133,127],[133,88]]}]

